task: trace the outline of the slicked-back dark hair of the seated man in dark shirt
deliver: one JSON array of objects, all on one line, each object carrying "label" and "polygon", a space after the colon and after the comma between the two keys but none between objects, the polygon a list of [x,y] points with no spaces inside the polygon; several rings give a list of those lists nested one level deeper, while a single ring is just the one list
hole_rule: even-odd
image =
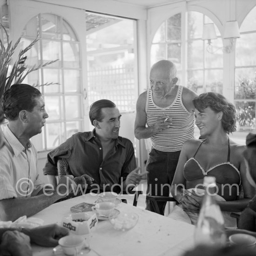
[{"label": "slicked-back dark hair of the seated man in dark shirt", "polygon": [[102,121],[104,118],[101,113],[101,108],[115,108],[116,105],[114,102],[103,99],[99,101],[95,101],[91,106],[90,106],[90,111],[89,111],[89,118],[91,121],[91,124],[94,125],[94,120],[97,121]]}]

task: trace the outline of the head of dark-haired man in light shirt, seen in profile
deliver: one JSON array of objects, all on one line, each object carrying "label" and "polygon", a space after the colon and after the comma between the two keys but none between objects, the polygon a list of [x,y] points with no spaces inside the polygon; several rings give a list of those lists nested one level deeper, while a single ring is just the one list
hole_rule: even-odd
[{"label": "head of dark-haired man in light shirt, seen in profile", "polygon": [[3,95],[2,108],[8,127],[28,138],[41,133],[48,118],[42,94],[28,84],[14,84]]}]

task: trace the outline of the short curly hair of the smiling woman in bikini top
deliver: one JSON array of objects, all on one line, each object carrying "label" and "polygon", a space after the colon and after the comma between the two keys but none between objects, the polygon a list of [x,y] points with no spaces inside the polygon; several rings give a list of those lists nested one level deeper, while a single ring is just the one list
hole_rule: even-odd
[{"label": "short curly hair of the smiling woman in bikini top", "polygon": [[195,108],[204,112],[209,107],[216,113],[222,112],[222,127],[227,134],[236,131],[236,108],[222,94],[219,93],[203,93],[193,100]]}]

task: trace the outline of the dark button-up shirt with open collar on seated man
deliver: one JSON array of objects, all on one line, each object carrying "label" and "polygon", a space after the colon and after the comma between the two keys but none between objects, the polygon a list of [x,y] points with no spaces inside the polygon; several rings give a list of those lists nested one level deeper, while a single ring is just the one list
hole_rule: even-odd
[{"label": "dark button-up shirt with open collar on seated man", "polygon": [[[48,153],[47,162],[43,168],[44,175],[58,175],[57,161],[65,158],[68,162],[67,171],[75,177],[87,174],[94,178],[90,189],[96,192],[109,191],[115,184],[121,184],[127,175],[136,168],[133,144],[130,140],[118,137],[115,147],[112,148],[103,160],[103,151],[100,140],[96,137],[95,129],[92,132],[80,132],[67,139],[59,147]],[[122,180],[121,180],[122,178]],[[115,186],[113,191],[119,193],[120,186]]]}]

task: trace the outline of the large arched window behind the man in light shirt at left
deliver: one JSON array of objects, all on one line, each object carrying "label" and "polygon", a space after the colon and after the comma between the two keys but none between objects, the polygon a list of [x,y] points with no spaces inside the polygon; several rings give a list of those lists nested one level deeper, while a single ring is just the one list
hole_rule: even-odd
[{"label": "large arched window behind the man in light shirt at left", "polygon": [[38,87],[49,118],[40,139],[33,141],[38,149],[50,149],[83,127],[80,43],[67,21],[54,14],[38,14],[29,20],[22,31],[21,48],[37,34],[39,40],[27,54],[28,66],[58,61],[30,73],[24,82],[56,83]]}]

